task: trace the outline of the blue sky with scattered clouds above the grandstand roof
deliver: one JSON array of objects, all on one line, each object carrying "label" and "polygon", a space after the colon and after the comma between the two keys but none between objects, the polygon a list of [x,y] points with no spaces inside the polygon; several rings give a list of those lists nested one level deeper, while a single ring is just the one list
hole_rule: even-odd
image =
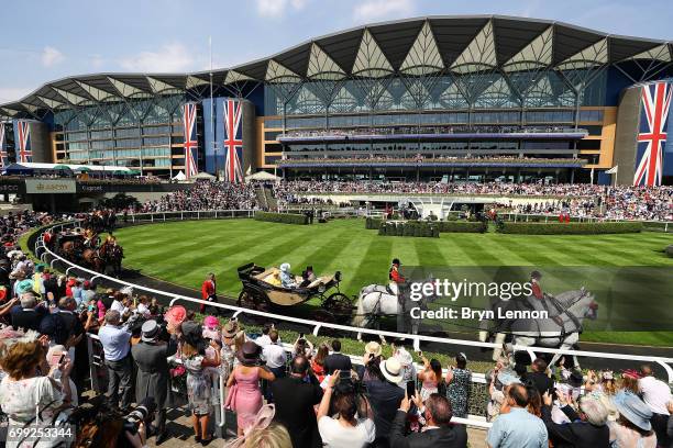
[{"label": "blue sky with scattered clouds above the grandstand roof", "polygon": [[25,0],[0,12],[0,103],[74,75],[207,70],[209,36],[225,68],[367,23],[461,14],[673,41],[670,0]]}]

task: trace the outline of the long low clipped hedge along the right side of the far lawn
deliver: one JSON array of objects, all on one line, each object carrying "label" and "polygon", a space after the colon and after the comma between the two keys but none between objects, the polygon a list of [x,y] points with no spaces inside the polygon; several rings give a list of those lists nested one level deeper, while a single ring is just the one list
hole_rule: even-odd
[{"label": "long low clipped hedge along the right side of the far lawn", "polygon": [[642,223],[512,223],[501,222],[498,232],[519,235],[597,235],[642,232]]}]

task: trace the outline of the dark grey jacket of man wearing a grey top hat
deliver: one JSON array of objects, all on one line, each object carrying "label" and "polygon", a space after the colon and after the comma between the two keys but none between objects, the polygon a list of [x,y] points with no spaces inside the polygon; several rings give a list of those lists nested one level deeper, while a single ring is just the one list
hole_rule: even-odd
[{"label": "dark grey jacket of man wearing a grey top hat", "polygon": [[142,402],[146,396],[154,396],[156,408],[166,408],[168,404],[168,384],[170,372],[166,358],[177,351],[177,344],[139,343],[131,347],[131,355],[137,366],[135,377],[135,401]]}]

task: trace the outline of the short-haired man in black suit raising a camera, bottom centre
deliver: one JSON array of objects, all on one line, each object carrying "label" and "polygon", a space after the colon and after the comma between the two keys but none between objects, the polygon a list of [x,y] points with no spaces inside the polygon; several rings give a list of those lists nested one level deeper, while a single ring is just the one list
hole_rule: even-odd
[{"label": "short-haired man in black suit raising a camera, bottom centre", "polygon": [[[410,410],[419,410],[426,419],[421,433],[405,436],[407,414]],[[451,403],[444,395],[430,394],[424,404],[420,397],[407,396],[399,405],[390,428],[390,448],[445,447],[466,448],[467,430],[465,425],[452,425]]]}]

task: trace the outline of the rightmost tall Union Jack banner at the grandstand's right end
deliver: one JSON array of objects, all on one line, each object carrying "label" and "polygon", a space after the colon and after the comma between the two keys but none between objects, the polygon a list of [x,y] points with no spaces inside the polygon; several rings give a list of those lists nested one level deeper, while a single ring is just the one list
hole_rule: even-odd
[{"label": "rightmost tall Union Jack banner at the grandstand's right end", "polygon": [[642,87],[633,186],[661,186],[671,93],[673,89],[665,81]]}]

